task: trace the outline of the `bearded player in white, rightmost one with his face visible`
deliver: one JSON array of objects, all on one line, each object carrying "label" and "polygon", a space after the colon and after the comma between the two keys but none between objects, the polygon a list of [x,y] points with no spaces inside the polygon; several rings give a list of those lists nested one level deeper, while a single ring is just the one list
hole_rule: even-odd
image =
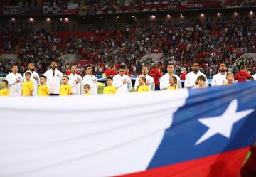
[{"label": "bearded player in white, rightmost one with his face visible", "polygon": [[227,82],[227,66],[225,65],[225,63],[219,64],[219,71],[220,73],[213,75],[213,80],[211,83],[212,86],[223,85],[223,82]]}]

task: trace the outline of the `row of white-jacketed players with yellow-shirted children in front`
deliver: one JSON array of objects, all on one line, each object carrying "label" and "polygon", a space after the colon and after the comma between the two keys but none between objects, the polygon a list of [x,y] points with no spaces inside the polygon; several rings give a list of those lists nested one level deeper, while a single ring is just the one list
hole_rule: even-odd
[{"label": "row of white-jacketed players with yellow-shirted children in front", "polygon": [[[28,70],[23,77],[18,73],[18,66],[12,65],[11,73],[6,76],[6,80],[1,82],[1,96],[47,96],[47,95],[97,95],[97,77],[92,75],[92,66],[85,67],[86,75],[82,78],[77,74],[76,65],[71,66],[71,74],[63,75],[57,69],[57,63],[53,60],[50,63],[50,70],[47,70],[43,76],[39,77],[35,71],[33,63],[28,64]],[[256,75],[252,77],[246,73],[245,65],[242,65],[240,72],[233,76],[233,73],[227,72],[225,63],[220,63],[218,74],[213,76],[212,86],[230,85],[234,83],[234,79],[238,82],[246,80],[254,80]],[[107,86],[103,90],[103,94],[124,93],[132,90],[132,80],[125,75],[126,68],[121,65],[119,74],[114,77],[107,77]],[[152,75],[153,76],[153,75]],[[24,80],[23,80],[24,78]],[[155,85],[155,79],[149,75],[149,68],[142,68],[142,75],[138,76],[135,81],[135,89],[137,92],[147,92],[153,90],[176,90],[181,87],[181,79],[174,74],[174,65],[167,66],[167,73],[160,78],[159,88]],[[201,73],[199,64],[193,63],[193,71],[186,75],[186,88],[208,87],[206,75]]]}]

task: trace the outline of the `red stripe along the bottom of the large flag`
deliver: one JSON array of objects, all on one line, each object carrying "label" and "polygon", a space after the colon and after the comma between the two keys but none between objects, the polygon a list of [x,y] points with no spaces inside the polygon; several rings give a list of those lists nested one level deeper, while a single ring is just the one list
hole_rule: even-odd
[{"label": "red stripe along the bottom of the large flag", "polygon": [[239,177],[248,150],[246,147],[122,177]]}]

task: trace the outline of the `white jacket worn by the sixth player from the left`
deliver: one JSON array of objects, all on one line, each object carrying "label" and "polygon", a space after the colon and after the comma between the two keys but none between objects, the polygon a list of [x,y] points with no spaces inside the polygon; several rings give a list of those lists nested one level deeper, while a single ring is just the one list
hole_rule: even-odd
[{"label": "white jacket worn by the sixth player from the left", "polygon": [[[125,84],[122,83],[122,80],[126,80]],[[132,89],[132,80],[128,75],[115,75],[113,77],[113,85],[117,88],[117,93],[129,92]]]}]

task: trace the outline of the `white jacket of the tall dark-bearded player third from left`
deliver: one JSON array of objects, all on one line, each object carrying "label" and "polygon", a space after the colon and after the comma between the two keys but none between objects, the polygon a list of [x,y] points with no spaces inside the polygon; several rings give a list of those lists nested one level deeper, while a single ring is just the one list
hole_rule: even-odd
[{"label": "white jacket of the tall dark-bearded player third from left", "polygon": [[61,78],[63,77],[63,73],[56,69],[53,75],[53,70],[50,69],[47,70],[46,73],[44,73],[43,75],[47,78],[46,84],[49,86],[50,93],[59,94],[60,82]]}]

